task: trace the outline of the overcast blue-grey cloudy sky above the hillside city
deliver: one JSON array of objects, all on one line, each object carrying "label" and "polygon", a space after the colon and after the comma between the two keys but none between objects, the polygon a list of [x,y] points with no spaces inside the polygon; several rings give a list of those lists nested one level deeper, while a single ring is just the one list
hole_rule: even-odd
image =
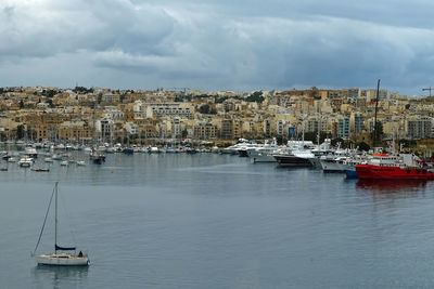
[{"label": "overcast blue-grey cloudy sky above the hillside city", "polygon": [[0,0],[0,87],[434,87],[430,0]]}]

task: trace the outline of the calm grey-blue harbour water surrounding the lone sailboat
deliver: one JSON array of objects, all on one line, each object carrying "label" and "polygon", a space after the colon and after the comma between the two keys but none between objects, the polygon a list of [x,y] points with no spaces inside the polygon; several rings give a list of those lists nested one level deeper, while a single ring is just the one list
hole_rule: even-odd
[{"label": "calm grey-blue harbour water surrounding the lone sailboat", "polygon": [[[30,258],[55,181],[61,242],[88,268]],[[434,183],[207,154],[12,165],[0,183],[0,288],[434,288]]]}]

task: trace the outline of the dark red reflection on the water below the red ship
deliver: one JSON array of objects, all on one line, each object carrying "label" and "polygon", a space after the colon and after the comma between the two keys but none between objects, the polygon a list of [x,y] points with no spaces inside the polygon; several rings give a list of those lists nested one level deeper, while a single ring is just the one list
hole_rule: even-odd
[{"label": "dark red reflection on the water below the red ship", "polygon": [[423,180],[358,180],[356,187],[376,193],[417,193],[426,187]]}]

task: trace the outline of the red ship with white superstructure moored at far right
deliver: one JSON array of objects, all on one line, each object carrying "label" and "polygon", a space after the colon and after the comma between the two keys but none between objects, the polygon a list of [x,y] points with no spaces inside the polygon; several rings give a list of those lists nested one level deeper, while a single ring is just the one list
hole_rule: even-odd
[{"label": "red ship with white superstructure moored at far right", "polygon": [[355,167],[362,180],[434,180],[434,171],[410,154],[374,154],[367,163]]}]

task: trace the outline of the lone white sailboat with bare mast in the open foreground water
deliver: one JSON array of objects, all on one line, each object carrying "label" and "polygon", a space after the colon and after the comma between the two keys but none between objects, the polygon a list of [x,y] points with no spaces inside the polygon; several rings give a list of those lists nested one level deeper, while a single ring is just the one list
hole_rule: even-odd
[{"label": "lone white sailboat with bare mast in the open foreground water", "polygon": [[[36,262],[38,265],[54,265],[54,266],[88,266],[89,265],[89,258],[86,253],[79,251],[76,253],[75,247],[61,247],[58,245],[58,186],[59,182],[55,182],[53,193],[50,197],[50,202],[46,212],[46,218],[43,220],[42,228],[39,234],[38,242],[36,244],[35,250],[33,252],[33,257],[35,257]],[[48,214],[50,212],[51,202],[54,197],[54,252],[46,253],[46,254],[38,254],[35,255],[36,250],[38,249],[39,242],[42,237],[43,228],[46,227],[46,222]]]}]

